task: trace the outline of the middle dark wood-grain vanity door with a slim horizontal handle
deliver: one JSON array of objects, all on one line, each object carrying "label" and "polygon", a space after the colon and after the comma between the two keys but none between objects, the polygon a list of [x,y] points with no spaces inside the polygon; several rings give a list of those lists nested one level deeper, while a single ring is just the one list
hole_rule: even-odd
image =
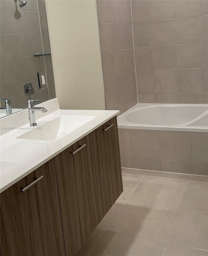
[{"label": "middle dark wood-grain vanity door with a slim horizontal handle", "polygon": [[66,255],[71,256],[78,252],[100,221],[91,135],[54,160]]}]

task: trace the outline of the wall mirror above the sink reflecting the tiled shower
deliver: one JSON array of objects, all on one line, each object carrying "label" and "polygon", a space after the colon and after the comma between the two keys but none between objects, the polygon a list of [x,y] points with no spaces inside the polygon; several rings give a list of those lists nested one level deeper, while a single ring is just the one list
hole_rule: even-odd
[{"label": "wall mirror above the sink reflecting the tiled shower", "polygon": [[55,98],[55,85],[45,1],[0,0],[0,12],[0,117],[4,117],[27,108],[30,99]]}]

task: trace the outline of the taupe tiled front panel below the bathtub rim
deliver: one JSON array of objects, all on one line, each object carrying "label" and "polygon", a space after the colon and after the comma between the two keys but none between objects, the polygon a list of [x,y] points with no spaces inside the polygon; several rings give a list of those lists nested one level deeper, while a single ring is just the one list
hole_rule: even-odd
[{"label": "taupe tiled front panel below the bathtub rim", "polygon": [[208,175],[208,134],[119,129],[122,167]]}]

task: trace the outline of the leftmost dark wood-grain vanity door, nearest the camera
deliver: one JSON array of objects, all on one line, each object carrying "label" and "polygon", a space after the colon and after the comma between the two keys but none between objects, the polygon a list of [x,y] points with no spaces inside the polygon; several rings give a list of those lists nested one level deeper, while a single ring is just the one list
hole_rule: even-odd
[{"label": "leftmost dark wood-grain vanity door, nearest the camera", "polygon": [[53,159],[1,193],[1,253],[65,255]]}]

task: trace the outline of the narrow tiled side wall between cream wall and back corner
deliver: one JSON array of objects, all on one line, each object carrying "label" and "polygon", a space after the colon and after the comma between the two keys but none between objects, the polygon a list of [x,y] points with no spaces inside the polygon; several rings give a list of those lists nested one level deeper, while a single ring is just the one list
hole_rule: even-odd
[{"label": "narrow tiled side wall between cream wall and back corner", "polygon": [[131,1],[97,0],[106,109],[137,104]]}]

